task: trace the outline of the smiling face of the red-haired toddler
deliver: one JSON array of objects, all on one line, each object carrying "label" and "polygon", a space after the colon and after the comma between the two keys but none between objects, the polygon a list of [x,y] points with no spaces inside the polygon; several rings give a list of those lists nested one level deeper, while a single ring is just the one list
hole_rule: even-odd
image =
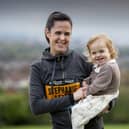
[{"label": "smiling face of the red-haired toddler", "polygon": [[104,40],[98,39],[90,45],[90,56],[92,62],[99,66],[111,59],[111,54]]}]

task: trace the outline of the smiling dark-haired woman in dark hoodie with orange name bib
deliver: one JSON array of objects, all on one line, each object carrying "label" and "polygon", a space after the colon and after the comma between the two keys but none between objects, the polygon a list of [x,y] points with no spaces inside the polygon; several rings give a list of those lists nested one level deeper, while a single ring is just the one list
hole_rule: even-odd
[{"label": "smiling dark-haired woman in dark hoodie with orange name bib", "polygon": [[[49,48],[31,66],[31,110],[35,115],[50,113],[53,129],[72,129],[70,107],[85,98],[86,87],[81,82],[92,70],[84,56],[69,49],[71,33],[70,17],[51,13],[45,27]],[[102,129],[102,117],[92,119],[86,128]]]}]

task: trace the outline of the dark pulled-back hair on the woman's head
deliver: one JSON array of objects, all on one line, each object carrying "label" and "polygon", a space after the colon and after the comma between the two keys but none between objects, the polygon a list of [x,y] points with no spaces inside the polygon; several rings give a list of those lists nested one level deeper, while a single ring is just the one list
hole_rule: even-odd
[{"label": "dark pulled-back hair on the woman's head", "polygon": [[[70,23],[71,27],[72,27],[72,20],[67,14],[55,11],[55,12],[52,12],[49,15],[45,28],[47,28],[48,31],[50,31],[51,28],[54,26],[55,21],[68,21]],[[46,34],[45,34],[45,37],[46,37],[46,40],[49,43],[49,39],[47,38]]]}]

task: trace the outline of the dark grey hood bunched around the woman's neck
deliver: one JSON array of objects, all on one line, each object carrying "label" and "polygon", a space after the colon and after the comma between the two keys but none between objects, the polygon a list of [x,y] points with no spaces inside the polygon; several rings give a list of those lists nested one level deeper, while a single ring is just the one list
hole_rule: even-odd
[{"label": "dark grey hood bunched around the woman's neck", "polygon": [[50,54],[50,47],[46,48],[43,52],[42,52],[42,58],[41,59],[46,59],[46,60],[53,60],[57,57],[60,57],[60,56],[68,56],[70,53],[72,53],[72,50],[67,50],[64,54],[59,54],[59,55],[56,55],[56,56],[52,56]]}]

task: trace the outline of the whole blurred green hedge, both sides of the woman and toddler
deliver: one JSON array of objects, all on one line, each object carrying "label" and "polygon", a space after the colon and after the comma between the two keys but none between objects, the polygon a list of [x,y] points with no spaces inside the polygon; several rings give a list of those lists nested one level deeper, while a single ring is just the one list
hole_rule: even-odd
[{"label": "whole blurred green hedge, both sides of the woman and toddler", "polygon": [[[27,91],[27,90],[26,90]],[[115,108],[104,115],[104,122],[129,123],[129,87],[121,86],[120,96]],[[48,114],[32,115],[27,92],[0,92],[0,125],[50,124]]]}]

